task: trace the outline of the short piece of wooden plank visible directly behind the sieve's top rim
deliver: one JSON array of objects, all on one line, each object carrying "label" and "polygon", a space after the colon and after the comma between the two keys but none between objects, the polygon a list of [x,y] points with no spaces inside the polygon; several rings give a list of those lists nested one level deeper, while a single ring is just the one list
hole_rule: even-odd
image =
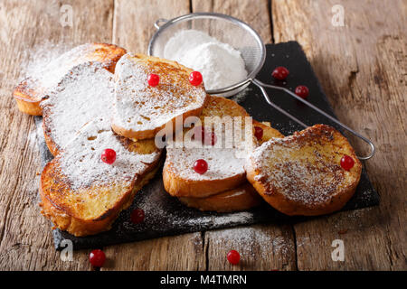
[{"label": "short piece of wooden plank visible directly behind the sieve's top rim", "polygon": [[228,14],[251,25],[265,43],[271,43],[268,0],[192,0],[192,11]]}]

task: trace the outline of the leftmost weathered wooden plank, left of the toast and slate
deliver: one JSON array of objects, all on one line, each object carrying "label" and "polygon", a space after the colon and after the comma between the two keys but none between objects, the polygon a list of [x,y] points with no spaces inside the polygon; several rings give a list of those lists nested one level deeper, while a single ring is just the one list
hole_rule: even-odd
[{"label": "leftmost weathered wooden plank, left of the toast and slate", "polygon": [[[62,5],[71,5],[72,26],[60,23]],[[12,90],[33,46],[43,42],[109,42],[113,2],[2,1],[0,3],[0,269],[86,270],[88,252],[62,262],[53,248],[51,225],[40,214],[40,171],[33,117],[17,110]]]}]

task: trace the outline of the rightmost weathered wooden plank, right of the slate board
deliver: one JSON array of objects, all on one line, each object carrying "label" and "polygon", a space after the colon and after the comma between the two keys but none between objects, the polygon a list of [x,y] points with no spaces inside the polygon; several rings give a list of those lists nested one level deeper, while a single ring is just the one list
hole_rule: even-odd
[{"label": "rightmost weathered wooden plank, right of the slate board", "polygon": [[[331,24],[334,5],[344,7],[343,27]],[[380,207],[296,225],[299,270],[406,269],[406,5],[272,1],[275,41],[303,46],[339,119],[378,148],[365,165]],[[344,240],[344,262],[332,261],[334,239]]]}]

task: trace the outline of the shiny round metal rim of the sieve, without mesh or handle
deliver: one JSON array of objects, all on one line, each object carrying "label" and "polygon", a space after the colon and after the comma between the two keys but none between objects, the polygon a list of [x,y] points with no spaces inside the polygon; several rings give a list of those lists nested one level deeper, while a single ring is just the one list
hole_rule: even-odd
[{"label": "shiny round metal rim of the sieve, without mesh or handle", "polygon": [[156,25],[156,27],[158,27],[157,31],[151,37],[150,42],[148,42],[148,49],[147,49],[148,55],[152,56],[154,43],[156,42],[156,39],[159,37],[160,33],[163,33],[163,31],[165,31],[166,28],[168,28],[171,25],[178,23],[180,21],[184,21],[186,19],[193,19],[193,18],[197,18],[197,17],[199,17],[199,18],[208,17],[208,18],[213,18],[213,19],[218,18],[218,19],[227,20],[232,23],[235,23],[238,26],[240,26],[242,29],[245,29],[248,33],[251,33],[251,35],[255,39],[258,47],[260,48],[260,62],[253,70],[251,70],[251,73],[249,73],[249,75],[247,76],[246,79],[243,79],[226,88],[212,89],[212,90],[207,90],[206,92],[208,94],[222,94],[222,93],[230,92],[234,89],[238,89],[241,86],[244,86],[245,84],[251,82],[256,77],[256,75],[259,73],[261,68],[263,67],[264,61],[266,61],[266,46],[264,45],[264,42],[261,40],[259,33],[257,33],[248,23],[244,23],[241,20],[234,18],[232,16],[229,16],[229,15],[226,15],[226,14],[200,12],[200,13],[193,13],[193,14],[185,14],[185,15],[182,15],[179,17],[175,17],[168,21],[166,21],[165,19],[159,19],[158,21],[165,22],[165,23],[161,26]]}]

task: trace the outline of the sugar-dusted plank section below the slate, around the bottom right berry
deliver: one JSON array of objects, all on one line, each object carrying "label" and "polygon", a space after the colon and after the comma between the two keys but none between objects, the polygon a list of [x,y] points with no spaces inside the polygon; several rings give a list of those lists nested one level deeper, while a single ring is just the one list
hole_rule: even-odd
[{"label": "sugar-dusted plank section below the slate, around the bottom right berry", "polygon": [[[295,242],[289,225],[255,225],[205,233],[208,270],[295,270]],[[238,266],[227,261],[236,250],[241,255]]]}]

